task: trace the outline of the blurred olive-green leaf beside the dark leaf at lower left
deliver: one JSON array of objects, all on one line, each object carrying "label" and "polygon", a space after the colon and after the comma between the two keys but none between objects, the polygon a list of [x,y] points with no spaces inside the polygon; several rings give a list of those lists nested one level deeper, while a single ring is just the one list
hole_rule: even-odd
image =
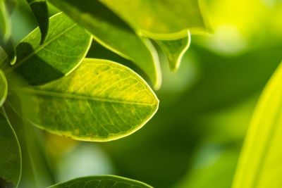
[{"label": "blurred olive-green leaf beside the dark leaf at lower left", "polygon": [[4,106],[5,111],[17,134],[22,153],[23,169],[18,187],[41,188],[54,184],[47,158],[44,155],[44,148],[42,148],[44,137],[43,134],[40,134],[42,133],[41,130],[20,118],[20,115],[22,115],[21,108],[18,108],[16,113],[7,104],[5,103]]}]

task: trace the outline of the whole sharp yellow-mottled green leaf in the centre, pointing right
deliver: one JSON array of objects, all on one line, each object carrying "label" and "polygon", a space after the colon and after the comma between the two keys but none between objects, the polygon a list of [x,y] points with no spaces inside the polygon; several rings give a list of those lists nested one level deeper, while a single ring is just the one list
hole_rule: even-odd
[{"label": "whole sharp yellow-mottled green leaf in the centre, pointing right", "polygon": [[13,90],[22,97],[23,115],[30,123],[55,134],[97,142],[135,132],[159,106],[152,89],[132,70],[92,58],[85,58],[60,80]]}]

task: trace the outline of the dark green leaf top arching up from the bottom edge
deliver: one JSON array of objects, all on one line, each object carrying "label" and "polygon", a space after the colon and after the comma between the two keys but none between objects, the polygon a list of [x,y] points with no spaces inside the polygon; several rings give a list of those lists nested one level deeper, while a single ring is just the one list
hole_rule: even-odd
[{"label": "dark green leaf top arching up from the bottom edge", "polygon": [[[54,184],[48,188],[61,188],[61,187],[85,187],[85,188],[146,188],[151,187],[149,184],[145,184],[143,182],[139,182],[137,180],[131,180],[125,177],[119,177],[116,175],[96,175],[96,176],[88,176],[88,177],[79,177],[68,182],[63,182],[59,184]],[[152,187],[151,187],[152,188]]]}]

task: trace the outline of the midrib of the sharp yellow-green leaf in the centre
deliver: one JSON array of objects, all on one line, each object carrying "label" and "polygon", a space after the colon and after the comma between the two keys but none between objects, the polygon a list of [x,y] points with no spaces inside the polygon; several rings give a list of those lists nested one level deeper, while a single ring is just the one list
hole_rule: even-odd
[{"label": "midrib of the sharp yellow-green leaf in the centre", "polygon": [[108,102],[108,103],[118,103],[118,104],[133,104],[133,105],[142,105],[142,106],[154,106],[157,105],[157,102],[154,103],[142,103],[142,102],[134,102],[134,101],[122,101],[116,99],[105,99],[102,97],[97,96],[85,96],[82,94],[70,94],[70,93],[62,93],[62,92],[51,92],[42,89],[31,89],[31,88],[17,88],[14,90],[21,90],[22,92],[29,93],[29,94],[39,94],[45,96],[56,96],[61,98],[68,98],[68,99],[80,99],[85,101],[100,101],[100,102]]}]

